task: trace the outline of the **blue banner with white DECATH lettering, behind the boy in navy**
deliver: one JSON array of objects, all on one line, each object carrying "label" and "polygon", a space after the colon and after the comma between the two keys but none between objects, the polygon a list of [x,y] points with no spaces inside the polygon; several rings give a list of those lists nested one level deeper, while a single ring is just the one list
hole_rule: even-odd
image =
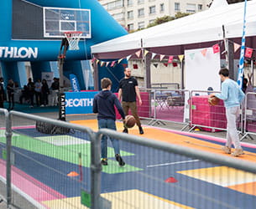
[{"label": "blue banner with white DECATH lettering, behind the boy in navy", "polygon": [[94,95],[98,91],[65,92],[65,114],[92,113]]}]

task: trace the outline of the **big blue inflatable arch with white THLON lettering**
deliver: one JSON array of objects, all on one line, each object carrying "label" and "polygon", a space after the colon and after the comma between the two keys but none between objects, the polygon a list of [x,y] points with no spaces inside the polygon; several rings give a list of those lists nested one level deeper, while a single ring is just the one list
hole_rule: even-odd
[{"label": "big blue inflatable arch with white THLON lettering", "polygon": [[[45,37],[44,8],[90,11],[91,38],[81,38],[79,50],[68,50],[64,65],[65,77],[76,74],[81,89],[91,81],[85,79],[88,68],[85,60],[91,59],[91,45],[127,34],[97,0],[4,0],[0,5],[0,28],[4,28],[0,33],[0,73],[5,84],[8,79],[20,86],[27,83],[25,62],[30,62],[33,79],[41,78],[42,72],[58,72],[56,60],[61,38]],[[116,88],[118,79],[123,77],[123,65],[115,69],[99,67],[97,77],[115,78],[113,87]]]}]

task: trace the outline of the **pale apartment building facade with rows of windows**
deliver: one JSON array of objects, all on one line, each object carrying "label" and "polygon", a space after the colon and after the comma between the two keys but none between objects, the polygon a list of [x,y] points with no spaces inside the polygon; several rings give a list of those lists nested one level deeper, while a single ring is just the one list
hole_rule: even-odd
[{"label": "pale apartment building facade with rows of windows", "polygon": [[206,10],[212,0],[99,0],[128,31],[147,28],[156,18]]}]

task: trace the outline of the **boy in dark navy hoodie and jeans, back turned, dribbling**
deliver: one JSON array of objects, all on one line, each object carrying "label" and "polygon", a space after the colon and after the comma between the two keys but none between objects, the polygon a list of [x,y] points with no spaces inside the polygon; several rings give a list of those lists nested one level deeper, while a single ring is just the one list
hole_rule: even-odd
[{"label": "boy in dark navy hoodie and jeans, back turned, dribbling", "polygon": [[[107,128],[111,130],[117,130],[116,127],[116,113],[114,106],[117,107],[119,114],[122,116],[123,120],[125,115],[123,108],[115,94],[110,91],[112,86],[112,81],[110,79],[104,78],[101,80],[102,91],[95,95],[93,99],[93,112],[97,113],[98,128]],[[124,166],[120,155],[119,141],[110,138],[112,146],[115,151],[116,160],[119,166]],[[103,166],[107,166],[107,136],[102,136],[102,161]]]}]

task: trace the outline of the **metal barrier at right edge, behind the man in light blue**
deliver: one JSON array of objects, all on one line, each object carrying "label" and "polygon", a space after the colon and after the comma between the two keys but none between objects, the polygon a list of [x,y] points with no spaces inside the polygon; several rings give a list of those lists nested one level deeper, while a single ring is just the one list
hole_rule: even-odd
[{"label": "metal barrier at right edge, behind the man in light blue", "polygon": [[243,115],[244,135],[240,140],[247,136],[251,138],[250,135],[256,135],[256,93],[248,92],[246,94]]}]

